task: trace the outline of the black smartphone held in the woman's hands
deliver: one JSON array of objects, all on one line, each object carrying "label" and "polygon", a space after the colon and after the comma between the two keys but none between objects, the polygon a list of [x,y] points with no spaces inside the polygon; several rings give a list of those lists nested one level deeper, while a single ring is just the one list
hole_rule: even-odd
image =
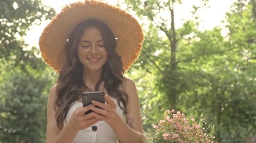
[{"label": "black smartphone held in the woman's hands", "polygon": [[[86,106],[92,104],[92,100],[105,103],[104,95],[105,95],[105,93],[102,91],[83,92],[83,94],[82,94],[83,107],[86,107]],[[96,106],[96,107],[98,107],[98,106]],[[100,108],[100,107],[98,107],[98,108]],[[91,112],[92,112],[92,110],[89,110],[89,111],[86,111],[85,114],[89,114]]]}]

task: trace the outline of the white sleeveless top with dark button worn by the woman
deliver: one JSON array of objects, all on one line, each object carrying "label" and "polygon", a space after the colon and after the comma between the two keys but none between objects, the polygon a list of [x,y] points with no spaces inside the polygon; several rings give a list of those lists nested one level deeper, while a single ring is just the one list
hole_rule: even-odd
[{"label": "white sleeveless top with dark button worn by the woman", "polygon": [[[117,104],[117,100],[116,99],[113,99],[113,100]],[[67,123],[67,121],[70,120],[71,115],[74,113],[74,110],[76,110],[77,107],[83,107],[82,102],[79,102],[79,101],[73,102],[73,104],[70,107],[70,110],[68,111],[65,123]],[[119,107],[119,105],[116,108],[116,112],[124,121],[126,120],[124,110],[122,110]],[[64,123],[64,126],[65,126],[65,123]],[[95,126],[97,126],[97,130],[95,131],[92,130],[93,126],[94,128]],[[73,143],[112,143],[112,142],[113,143],[116,142],[116,133],[104,120],[95,123],[95,125],[92,125],[87,129],[80,130],[79,132],[77,132],[77,135],[73,140]]]}]

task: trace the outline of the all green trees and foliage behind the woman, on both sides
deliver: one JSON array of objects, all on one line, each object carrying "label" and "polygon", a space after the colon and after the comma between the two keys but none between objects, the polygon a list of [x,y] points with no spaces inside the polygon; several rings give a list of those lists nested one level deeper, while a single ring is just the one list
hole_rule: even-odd
[{"label": "all green trees and foliage behind the woman, on both sides", "polygon": [[[144,21],[143,49],[125,73],[137,84],[144,130],[153,132],[165,110],[174,109],[203,119],[216,142],[243,142],[256,135],[256,1],[237,0],[223,26],[210,30],[198,28],[207,0],[191,5],[191,19],[181,27],[179,4],[125,0]],[[0,1],[0,143],[44,142],[48,92],[58,74],[22,37],[54,15],[40,0]]]}]

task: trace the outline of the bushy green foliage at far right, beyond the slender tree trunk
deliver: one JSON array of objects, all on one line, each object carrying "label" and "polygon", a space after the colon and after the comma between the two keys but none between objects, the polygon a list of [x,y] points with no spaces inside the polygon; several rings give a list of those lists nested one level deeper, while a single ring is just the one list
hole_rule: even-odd
[{"label": "bushy green foliage at far right, beyond the slender tree trunk", "polygon": [[222,37],[221,29],[215,28],[183,42],[193,47],[189,53],[194,57],[180,64],[180,68],[190,71],[187,74],[191,78],[186,82],[192,84],[180,94],[178,106],[187,113],[206,117],[207,122],[215,125],[219,142],[240,142],[256,133],[256,35],[250,11],[248,5],[239,14],[228,14],[227,37]]}]

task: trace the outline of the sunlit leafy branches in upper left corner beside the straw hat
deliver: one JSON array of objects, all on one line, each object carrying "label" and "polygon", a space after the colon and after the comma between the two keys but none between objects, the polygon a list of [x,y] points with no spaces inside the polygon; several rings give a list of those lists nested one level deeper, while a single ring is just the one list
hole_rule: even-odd
[{"label": "sunlit leafy branches in upper left corner beside the straw hat", "polygon": [[[32,24],[40,24],[55,14],[52,8],[44,7],[40,0],[0,1],[0,58],[13,60],[17,64],[31,56],[18,38],[26,35]],[[22,58],[22,59],[20,59]],[[24,58],[24,59],[23,59]]]}]

